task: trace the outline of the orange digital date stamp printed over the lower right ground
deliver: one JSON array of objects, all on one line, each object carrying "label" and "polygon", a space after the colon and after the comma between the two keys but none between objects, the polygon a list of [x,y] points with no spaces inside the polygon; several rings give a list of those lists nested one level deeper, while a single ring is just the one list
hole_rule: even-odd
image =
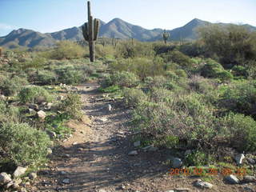
[{"label": "orange digital date stamp printed over the lower right ground", "polygon": [[214,168],[197,168],[194,167],[193,169],[174,169],[171,168],[169,171],[169,175],[174,176],[174,175],[197,175],[197,176],[203,176],[203,175],[218,175],[218,174],[222,174],[224,176],[230,175],[230,174],[234,174],[237,176],[243,176],[246,174],[246,169],[245,168],[238,168],[236,170],[232,170],[230,168],[223,168],[222,170],[218,170],[218,169],[214,169]]}]

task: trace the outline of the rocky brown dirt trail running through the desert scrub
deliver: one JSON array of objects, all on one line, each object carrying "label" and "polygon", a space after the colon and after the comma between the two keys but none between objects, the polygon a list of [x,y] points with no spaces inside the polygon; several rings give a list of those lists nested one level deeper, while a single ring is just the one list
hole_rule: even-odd
[{"label": "rocky brown dirt trail running through the desert scrub", "polygon": [[[143,152],[129,156],[134,146],[127,128],[129,110],[120,102],[106,102],[97,83],[78,86],[84,102],[83,122],[70,122],[73,137],[54,150],[48,170],[38,174],[30,191],[150,191],[175,188],[201,191],[192,183],[197,178],[170,177],[166,151]],[[110,104],[113,110],[107,110]],[[243,191],[213,178],[212,190]],[[63,183],[65,181],[66,183]]]}]

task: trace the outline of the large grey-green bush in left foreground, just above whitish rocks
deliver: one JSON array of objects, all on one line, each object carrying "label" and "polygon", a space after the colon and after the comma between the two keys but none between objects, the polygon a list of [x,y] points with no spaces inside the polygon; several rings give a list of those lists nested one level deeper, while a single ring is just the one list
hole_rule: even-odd
[{"label": "large grey-green bush in left foreground, just above whitish rocks", "polygon": [[26,123],[5,122],[0,126],[0,149],[18,166],[44,161],[49,146],[48,135]]}]

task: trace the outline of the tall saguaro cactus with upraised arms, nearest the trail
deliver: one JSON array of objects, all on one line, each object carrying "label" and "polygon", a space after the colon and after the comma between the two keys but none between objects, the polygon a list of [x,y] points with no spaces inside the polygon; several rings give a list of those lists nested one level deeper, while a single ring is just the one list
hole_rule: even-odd
[{"label": "tall saguaro cactus with upraised arms, nearest the trail", "polygon": [[88,22],[82,26],[82,34],[85,40],[89,44],[90,50],[90,62],[95,60],[94,42],[98,39],[99,21],[97,18],[93,18],[90,12],[90,1],[87,2],[88,7]]}]

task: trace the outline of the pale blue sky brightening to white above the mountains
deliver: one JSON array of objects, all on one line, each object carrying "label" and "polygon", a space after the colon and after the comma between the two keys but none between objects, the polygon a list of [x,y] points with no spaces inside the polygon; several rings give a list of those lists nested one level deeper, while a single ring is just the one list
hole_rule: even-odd
[{"label": "pale blue sky brightening to white above the mountains", "polygon": [[[193,18],[256,26],[256,0],[91,0],[104,22],[121,18],[146,29],[172,30]],[[42,33],[82,26],[86,0],[0,0],[0,37],[25,28]]]}]

